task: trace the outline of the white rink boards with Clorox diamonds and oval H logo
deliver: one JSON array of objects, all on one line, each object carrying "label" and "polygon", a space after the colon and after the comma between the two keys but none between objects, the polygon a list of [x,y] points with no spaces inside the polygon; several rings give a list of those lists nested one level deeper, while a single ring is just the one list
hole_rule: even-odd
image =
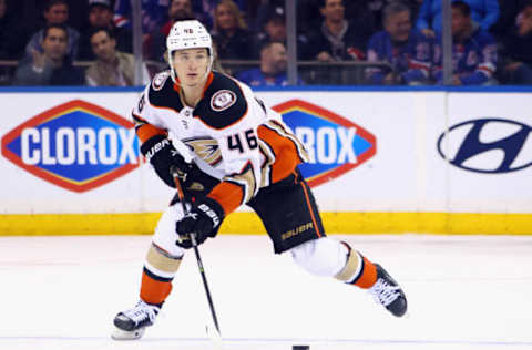
[{"label": "white rink boards with Clorox diamonds and oval H logo", "polygon": [[[142,162],[129,120],[140,94],[0,93],[0,212],[161,213],[173,189]],[[323,212],[532,213],[530,94],[257,96],[305,145]]]}]

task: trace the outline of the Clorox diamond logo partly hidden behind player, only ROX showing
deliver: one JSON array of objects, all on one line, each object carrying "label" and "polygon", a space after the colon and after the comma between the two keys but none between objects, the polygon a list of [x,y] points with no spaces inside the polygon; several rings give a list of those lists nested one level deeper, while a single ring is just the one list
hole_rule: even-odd
[{"label": "Clorox diamond logo partly hidden behind player, only ROX showing", "polygon": [[310,186],[318,186],[359,166],[377,152],[374,134],[315,104],[290,100],[274,106],[303,142],[309,162],[299,165]]}]

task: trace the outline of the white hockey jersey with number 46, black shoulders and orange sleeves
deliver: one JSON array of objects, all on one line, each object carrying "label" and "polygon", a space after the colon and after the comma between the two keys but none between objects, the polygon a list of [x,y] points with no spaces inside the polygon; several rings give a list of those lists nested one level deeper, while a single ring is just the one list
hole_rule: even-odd
[{"label": "white hockey jersey with number 46, black shoulders and orange sleeves", "polygon": [[[133,109],[141,142],[168,134],[185,159],[222,182],[208,196],[225,214],[307,161],[303,144],[246,84],[212,72],[196,106],[184,103],[170,71],[157,74]],[[188,153],[188,154],[187,154]]]}]

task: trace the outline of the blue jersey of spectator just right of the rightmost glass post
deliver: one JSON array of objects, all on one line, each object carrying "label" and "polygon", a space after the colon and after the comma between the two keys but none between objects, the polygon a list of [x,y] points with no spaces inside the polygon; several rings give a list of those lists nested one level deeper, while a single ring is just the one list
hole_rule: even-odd
[{"label": "blue jersey of spectator just right of the rightmost glass post", "polygon": [[[441,43],[441,38],[437,40]],[[442,82],[441,45],[434,49],[434,78]],[[462,85],[482,85],[493,80],[497,70],[497,43],[493,37],[482,29],[477,29],[463,42],[452,44],[452,73],[458,74]]]}]

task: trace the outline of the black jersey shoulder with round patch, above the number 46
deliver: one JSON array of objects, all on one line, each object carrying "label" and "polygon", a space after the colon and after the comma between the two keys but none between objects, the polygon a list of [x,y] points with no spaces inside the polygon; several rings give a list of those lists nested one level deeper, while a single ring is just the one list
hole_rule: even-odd
[{"label": "black jersey shoulder with round patch, above the number 46", "polygon": [[238,83],[229,76],[213,72],[213,81],[194,110],[194,116],[209,127],[222,130],[247,113],[247,101]]}]

